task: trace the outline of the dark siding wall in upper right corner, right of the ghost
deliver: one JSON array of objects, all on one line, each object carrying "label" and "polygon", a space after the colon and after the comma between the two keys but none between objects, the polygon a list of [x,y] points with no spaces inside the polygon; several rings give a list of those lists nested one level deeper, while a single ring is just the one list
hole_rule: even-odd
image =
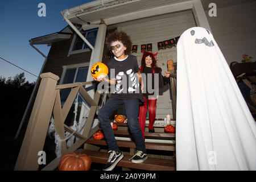
[{"label": "dark siding wall in upper right corner, right of the ghost", "polygon": [[241,62],[247,54],[256,60],[256,1],[218,8],[217,16],[207,15],[212,34],[226,61]]}]

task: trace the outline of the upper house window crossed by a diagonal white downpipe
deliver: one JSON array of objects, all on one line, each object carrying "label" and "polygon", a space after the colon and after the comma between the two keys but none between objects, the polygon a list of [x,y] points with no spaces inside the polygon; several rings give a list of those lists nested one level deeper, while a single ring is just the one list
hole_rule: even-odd
[{"label": "upper house window crossed by a diagonal white downpipe", "polygon": [[[82,32],[82,35],[84,35],[85,39],[88,40],[88,42],[92,44],[93,47],[95,46],[97,32],[98,32],[98,28],[93,28],[93,29]],[[73,44],[72,51],[77,51],[81,49],[90,49],[89,46],[84,42],[84,40],[80,38],[80,36],[76,35],[75,39],[76,40],[75,40],[75,43]]]}]

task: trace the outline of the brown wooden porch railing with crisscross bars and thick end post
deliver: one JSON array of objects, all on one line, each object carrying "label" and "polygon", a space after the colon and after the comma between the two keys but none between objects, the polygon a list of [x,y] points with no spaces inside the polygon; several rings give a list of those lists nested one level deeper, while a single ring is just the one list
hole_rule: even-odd
[{"label": "brown wooden porch railing with crisscross bars and thick end post", "polygon": [[[14,170],[38,170],[38,159],[40,158],[40,155],[38,154],[39,151],[43,151],[52,113],[55,120],[56,133],[59,135],[61,140],[64,140],[61,142],[61,155],[76,151],[77,148],[84,144],[86,140],[99,129],[99,127],[96,126],[91,130],[98,101],[100,100],[100,93],[96,91],[93,99],[83,87],[83,85],[92,84],[92,82],[57,85],[59,77],[53,73],[43,73],[40,77],[42,80],[40,82],[32,113],[30,115],[30,120],[28,121],[26,134],[23,139],[22,147],[19,151],[18,159],[16,160]],[[65,104],[61,107],[60,89],[64,88],[72,88],[72,90],[69,93]],[[80,93],[90,105],[89,115],[81,134],[64,124],[77,93]],[[65,130],[69,133],[73,133],[77,138],[79,138],[79,140],[73,143],[69,148],[67,148],[67,143],[65,141]],[[47,166],[42,170],[56,169],[59,164],[59,160],[60,158],[52,160],[52,162],[47,164]]]}]

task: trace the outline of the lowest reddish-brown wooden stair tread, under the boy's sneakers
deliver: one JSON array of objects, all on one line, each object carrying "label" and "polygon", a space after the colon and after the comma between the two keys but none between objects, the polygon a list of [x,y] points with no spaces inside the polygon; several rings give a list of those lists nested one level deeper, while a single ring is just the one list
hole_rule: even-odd
[{"label": "lowest reddish-brown wooden stair tread, under the boy's sneakers", "polygon": [[[88,155],[94,163],[106,164],[108,162],[109,154],[106,152],[84,150],[84,153]],[[174,171],[176,167],[175,160],[171,159],[147,158],[143,163],[135,164],[129,160],[131,157],[131,155],[123,155],[123,159],[117,166],[149,171]]]}]

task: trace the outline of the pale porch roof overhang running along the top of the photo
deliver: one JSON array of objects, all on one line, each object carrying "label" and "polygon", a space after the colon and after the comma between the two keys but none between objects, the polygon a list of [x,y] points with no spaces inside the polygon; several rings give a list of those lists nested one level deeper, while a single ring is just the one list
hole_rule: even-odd
[{"label": "pale porch roof overhang running along the top of the photo", "polygon": [[[209,3],[224,7],[254,0],[201,0],[204,10]],[[192,8],[193,0],[96,0],[61,11],[72,23],[93,24],[103,19],[107,25]],[[159,10],[159,11],[158,11]],[[164,10],[164,11],[163,11]]]}]

